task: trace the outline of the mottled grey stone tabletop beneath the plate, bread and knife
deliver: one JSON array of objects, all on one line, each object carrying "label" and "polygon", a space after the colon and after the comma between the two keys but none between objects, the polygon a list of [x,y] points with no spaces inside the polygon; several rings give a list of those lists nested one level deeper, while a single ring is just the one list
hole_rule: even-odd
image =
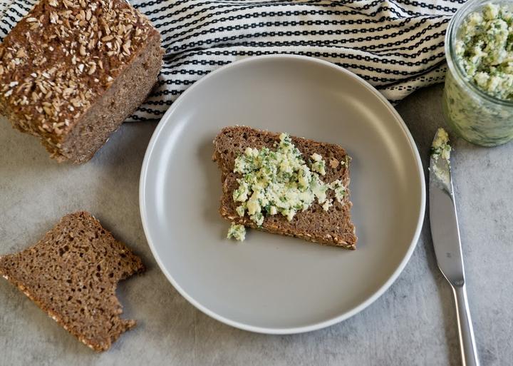
[{"label": "mottled grey stone tabletop beneath the plate, bread and knife", "polygon": [[[423,163],[442,126],[442,87],[418,91],[398,111]],[[404,272],[363,312],[302,335],[259,335],[203,315],[167,282],[147,246],[138,178],[155,123],[125,124],[83,166],[50,161],[31,137],[0,120],[0,254],[41,238],[62,215],[90,210],[147,265],[120,284],[138,327],[96,354],[0,279],[0,365],[460,365],[452,294],[438,272],[428,220]],[[455,140],[457,205],[468,293],[482,365],[511,365],[513,143]]]}]

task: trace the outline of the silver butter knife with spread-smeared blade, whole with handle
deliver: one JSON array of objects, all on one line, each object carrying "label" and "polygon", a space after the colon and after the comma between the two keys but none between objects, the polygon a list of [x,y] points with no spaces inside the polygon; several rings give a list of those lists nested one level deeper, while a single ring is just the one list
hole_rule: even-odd
[{"label": "silver butter knife with spread-smeared blade, whole with handle", "polygon": [[463,366],[479,366],[474,330],[465,287],[465,270],[450,172],[447,132],[439,128],[430,158],[430,223],[438,268],[452,288],[455,299]]}]

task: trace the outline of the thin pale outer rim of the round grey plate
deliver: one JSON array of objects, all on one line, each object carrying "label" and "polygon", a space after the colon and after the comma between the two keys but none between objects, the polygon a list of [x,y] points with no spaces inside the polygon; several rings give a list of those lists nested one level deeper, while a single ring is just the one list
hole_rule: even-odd
[{"label": "thin pale outer rim of the round grey plate", "polygon": [[[239,66],[242,63],[252,63],[257,62],[261,59],[290,59],[290,60],[302,60],[302,61],[308,61],[313,63],[318,63],[322,66],[328,66],[329,68],[333,68],[334,70],[338,72],[345,73],[347,76],[353,78],[356,82],[360,83],[362,86],[368,89],[371,93],[374,94],[378,100],[384,104],[384,106],[390,111],[390,113],[395,117],[395,120],[399,123],[400,128],[405,133],[405,136],[408,139],[408,143],[410,144],[410,150],[413,153],[413,157],[415,158],[416,168],[418,171],[418,178],[420,178],[420,211],[418,213],[418,222],[415,227],[415,233],[413,234],[413,238],[410,242],[410,245],[408,247],[408,250],[406,251],[403,259],[400,261],[397,268],[395,268],[394,272],[388,280],[383,283],[383,285],[378,288],[371,296],[369,296],[365,301],[360,303],[359,305],[356,305],[355,307],[351,308],[351,310],[348,310],[346,312],[343,312],[341,315],[331,317],[328,320],[323,320],[321,322],[316,322],[311,325],[304,325],[300,327],[258,327],[254,325],[247,325],[244,322],[238,322],[236,320],[231,320],[227,317],[224,317],[222,315],[217,314],[216,312],[209,310],[209,308],[205,307],[204,305],[198,303],[194,298],[192,298],[172,277],[172,275],[167,271],[165,268],[165,265],[163,265],[162,261],[160,260],[159,255],[157,255],[157,251],[155,250],[155,245],[152,243],[151,236],[150,236],[150,230],[148,228],[147,223],[147,207],[146,207],[146,201],[145,201],[145,192],[146,192],[146,177],[147,177],[147,170],[150,163],[150,158],[152,157],[153,150],[155,148],[155,143],[157,142],[157,139],[160,136],[160,133],[162,132],[162,129],[164,126],[168,123],[167,121],[170,120],[170,116],[174,111],[180,106],[180,103],[182,100],[187,96],[189,93],[192,93],[192,91],[195,90],[195,88],[198,88],[202,85],[205,81],[207,81],[209,78],[212,78],[216,76],[218,73],[222,73],[227,68],[232,68]],[[329,61],[325,61],[323,59],[316,59],[314,57],[309,56],[300,56],[300,55],[293,55],[293,54],[280,54],[280,55],[261,55],[261,56],[251,56],[247,57],[245,59],[233,61],[232,63],[229,63],[227,65],[224,65],[220,68],[217,68],[216,70],[210,72],[207,76],[204,76],[200,78],[198,81],[192,84],[189,88],[187,88],[170,106],[170,108],[167,109],[167,111],[164,113],[162,118],[160,118],[160,121],[157,124],[157,127],[155,128],[155,131],[152,133],[152,137],[150,138],[150,142],[147,145],[145,156],[142,161],[142,167],[140,172],[140,181],[139,181],[139,209],[140,209],[140,217],[142,221],[142,229],[145,233],[145,238],[147,240],[148,246],[150,247],[151,253],[153,255],[153,258],[155,258],[155,261],[157,262],[157,265],[159,266],[162,273],[164,273],[165,277],[168,281],[173,285],[173,287],[177,290],[180,295],[182,295],[185,300],[187,300],[190,304],[195,306],[197,310],[200,310],[204,314],[208,315],[209,317],[213,317],[215,320],[218,320],[219,322],[223,322],[224,324],[230,325],[232,327],[239,328],[241,330],[247,330],[250,332],[257,332],[262,334],[271,334],[271,335],[290,335],[290,334],[297,334],[297,333],[304,333],[304,332],[311,332],[313,330],[319,330],[325,327],[329,327],[331,325],[335,325],[338,322],[342,322],[343,320],[348,319],[349,317],[352,317],[353,315],[358,314],[358,312],[361,312],[366,307],[371,305],[375,302],[375,300],[378,300],[383,293],[385,293],[386,290],[390,288],[390,286],[395,282],[395,280],[398,279],[400,273],[403,273],[403,270],[405,269],[406,265],[408,264],[413,251],[417,247],[418,239],[420,237],[420,232],[423,228],[423,222],[425,217],[425,205],[426,205],[426,187],[425,187],[425,175],[424,175],[424,169],[423,164],[420,159],[420,155],[418,152],[417,145],[415,143],[415,140],[413,139],[413,136],[410,133],[410,130],[408,129],[408,126],[406,126],[405,122],[403,121],[403,118],[399,115],[398,111],[393,108],[392,104],[381,94],[378,90],[376,90],[373,86],[371,86],[370,83],[363,80],[360,76],[356,75],[355,73],[348,71],[346,68],[343,68],[341,66],[336,65],[335,63],[331,63]]]}]

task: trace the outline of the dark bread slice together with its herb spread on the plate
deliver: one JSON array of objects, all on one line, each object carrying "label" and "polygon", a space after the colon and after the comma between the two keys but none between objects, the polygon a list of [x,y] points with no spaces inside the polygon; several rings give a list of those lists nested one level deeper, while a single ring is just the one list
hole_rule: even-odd
[{"label": "dark bread slice together with its herb spread on the plate", "polygon": [[[283,172],[280,167],[256,164],[249,169],[240,168],[241,163],[247,164],[248,161],[252,161],[252,158],[267,162],[269,159],[276,158],[276,154],[282,156],[277,160],[277,164],[284,164],[286,159],[283,158],[284,154],[280,151],[281,147],[288,149],[285,150],[285,155],[297,152],[294,162],[296,168],[291,169],[284,166],[281,168],[291,169],[293,177],[306,175],[311,182],[317,180],[325,188],[327,187],[325,189],[326,197],[323,195],[320,197],[317,194],[312,196],[313,193],[308,183],[305,183],[304,186],[293,181],[283,183]],[[246,161],[244,161],[244,156],[248,156]],[[213,160],[217,162],[222,173],[223,194],[219,213],[223,218],[234,223],[235,228],[237,225],[244,225],[244,227],[257,228],[280,235],[291,235],[323,245],[356,249],[357,238],[355,227],[351,222],[352,204],[349,200],[348,189],[351,158],[340,146],[269,131],[259,131],[246,126],[232,126],[223,128],[214,139]],[[323,174],[318,167],[319,163],[323,165]],[[256,183],[259,189],[261,188],[259,192],[261,199],[258,201],[264,205],[254,208],[250,202],[254,195],[252,183],[247,184],[249,188],[243,194],[243,198],[247,198],[246,200],[241,199],[239,193],[241,185],[246,184],[242,183],[244,180],[255,183],[258,179],[255,177],[261,177],[263,171],[274,171],[277,176],[263,178],[267,182],[264,183],[265,188],[261,188],[261,182]],[[278,183],[275,188],[269,187],[269,181],[279,182],[280,179],[281,183]],[[293,187],[294,192],[284,191],[284,187]],[[337,194],[337,188],[341,194]],[[272,191],[273,189],[274,191]],[[271,192],[269,193],[269,191]],[[281,197],[277,198],[276,192],[281,192]],[[297,206],[296,209],[281,202],[286,200],[286,197],[298,194],[304,196],[305,199],[294,202],[294,205]],[[273,198],[276,199],[273,200]],[[234,227],[232,226],[232,228]]]}]

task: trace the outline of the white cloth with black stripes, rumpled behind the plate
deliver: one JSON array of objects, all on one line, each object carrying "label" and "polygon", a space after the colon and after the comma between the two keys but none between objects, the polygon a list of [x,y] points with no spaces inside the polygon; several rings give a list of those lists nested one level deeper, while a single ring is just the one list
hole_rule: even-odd
[{"label": "white cloth with black stripes, rumpled behind the plate", "polygon": [[[0,0],[0,40],[36,0]],[[157,119],[232,61],[299,54],[331,61],[400,101],[445,76],[447,23],[465,0],[130,0],[162,34],[158,86],[130,117]]]}]

